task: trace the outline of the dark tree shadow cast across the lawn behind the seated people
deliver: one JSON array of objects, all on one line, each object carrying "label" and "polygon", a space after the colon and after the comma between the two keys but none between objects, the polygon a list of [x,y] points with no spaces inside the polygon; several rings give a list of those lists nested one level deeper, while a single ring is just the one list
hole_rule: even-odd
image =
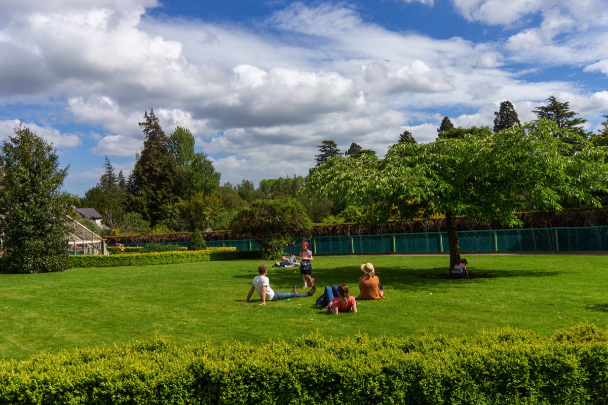
[{"label": "dark tree shadow cast across the lawn behind the seated people", "polygon": [[[426,288],[452,288],[461,287],[466,282],[491,282],[492,279],[502,277],[554,277],[561,274],[559,271],[537,271],[537,270],[469,270],[468,279],[452,279],[445,267],[435,268],[403,268],[403,267],[378,267],[376,273],[385,290],[417,291]],[[257,276],[257,268],[247,273],[236,274],[235,278],[253,280]],[[359,277],[362,272],[358,267],[334,267],[331,269],[314,268],[314,283],[317,293],[322,292],[326,285],[346,283],[351,293],[358,294]],[[268,268],[268,277],[271,287],[275,291],[291,290],[295,284],[302,290],[302,274],[298,267],[271,267]],[[302,290],[300,292],[303,292]]]}]

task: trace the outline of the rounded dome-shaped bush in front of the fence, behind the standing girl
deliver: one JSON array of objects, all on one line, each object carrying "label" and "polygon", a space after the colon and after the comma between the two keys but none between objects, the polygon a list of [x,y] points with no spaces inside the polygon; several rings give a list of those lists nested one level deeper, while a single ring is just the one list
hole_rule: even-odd
[{"label": "rounded dome-shaped bush in front of the fence, behind the standing girl", "polygon": [[277,257],[285,246],[279,247],[280,243],[308,236],[312,225],[302,204],[294,199],[257,200],[241,208],[232,231],[257,240],[264,257]]}]

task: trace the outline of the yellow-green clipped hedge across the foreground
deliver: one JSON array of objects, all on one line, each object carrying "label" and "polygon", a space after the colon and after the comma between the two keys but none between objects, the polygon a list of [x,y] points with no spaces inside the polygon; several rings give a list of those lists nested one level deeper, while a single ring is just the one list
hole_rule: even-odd
[{"label": "yellow-green clipped hedge across the foreground", "polygon": [[503,329],[472,338],[260,346],[164,339],[0,362],[7,404],[606,404],[608,333]]}]

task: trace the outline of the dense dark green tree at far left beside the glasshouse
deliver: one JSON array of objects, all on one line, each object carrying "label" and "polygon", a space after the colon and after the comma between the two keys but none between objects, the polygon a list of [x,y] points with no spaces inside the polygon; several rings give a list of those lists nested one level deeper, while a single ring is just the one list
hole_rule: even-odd
[{"label": "dense dark green tree at far left beside the glasshouse", "polygon": [[0,156],[0,235],[2,270],[46,273],[67,268],[66,196],[61,192],[67,167],[57,153],[19,126],[2,145]]}]

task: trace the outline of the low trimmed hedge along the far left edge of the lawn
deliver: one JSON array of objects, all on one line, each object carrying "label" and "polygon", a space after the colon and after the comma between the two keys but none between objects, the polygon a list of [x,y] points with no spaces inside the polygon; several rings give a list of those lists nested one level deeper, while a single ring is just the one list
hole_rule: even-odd
[{"label": "low trimmed hedge along the far left edge of the lawn", "polygon": [[235,247],[207,248],[196,251],[173,251],[158,253],[83,254],[68,257],[69,268],[82,267],[118,267],[147,266],[156,264],[178,264],[192,262],[209,262],[211,260],[257,259],[260,252],[255,250],[238,250]]}]

